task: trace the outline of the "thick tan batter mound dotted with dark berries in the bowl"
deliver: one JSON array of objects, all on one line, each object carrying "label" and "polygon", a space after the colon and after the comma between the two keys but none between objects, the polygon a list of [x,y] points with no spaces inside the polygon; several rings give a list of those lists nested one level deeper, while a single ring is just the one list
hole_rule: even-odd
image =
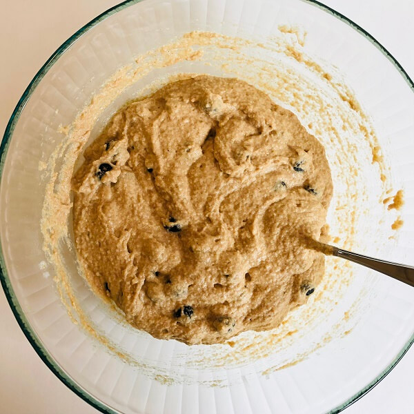
[{"label": "thick tan batter mound dotted with dark berries in the bowl", "polygon": [[244,81],[198,76],[128,103],[72,180],[90,285],[152,336],[275,328],[324,273],[324,148]]}]

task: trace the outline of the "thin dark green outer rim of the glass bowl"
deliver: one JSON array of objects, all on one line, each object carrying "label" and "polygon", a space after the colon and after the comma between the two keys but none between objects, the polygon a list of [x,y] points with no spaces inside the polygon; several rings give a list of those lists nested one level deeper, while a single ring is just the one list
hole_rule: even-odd
[{"label": "thin dark green outer rim of the glass bowl", "polygon": [[[17,122],[19,121],[19,117],[21,115],[21,112],[23,111],[24,107],[26,106],[26,103],[30,99],[32,93],[37,88],[37,85],[40,83],[41,79],[46,75],[46,73],[52,68],[52,66],[56,63],[56,61],[63,55],[64,52],[72,45],[72,43],[75,43],[77,39],[79,39],[83,34],[88,32],[91,28],[97,26],[101,21],[105,20],[106,18],[112,16],[112,14],[116,14],[117,12],[124,10],[125,8],[128,8],[134,4],[141,3],[141,1],[144,0],[125,0],[116,6],[113,6],[112,8],[109,8],[105,12],[102,12],[99,14],[95,19],[92,19],[86,25],[81,27],[77,32],[72,34],[71,37],[69,37],[66,41],[64,41],[55,52],[52,53],[52,55],[49,57],[49,59],[46,61],[46,63],[41,66],[39,71],[34,75],[32,81],[28,84],[28,87],[23,92],[23,95],[21,95],[21,98],[17,102],[16,107],[14,108],[12,115],[10,116],[10,119],[8,121],[8,124],[6,126],[6,130],[3,134],[3,139],[0,143],[0,184],[1,184],[1,177],[3,175],[3,167],[4,162],[6,159],[6,155],[8,152],[8,146],[10,144],[10,140],[12,138],[14,128],[17,125]],[[390,52],[382,44],[375,39],[370,33],[368,33],[366,30],[364,30],[361,26],[359,26],[357,23],[355,23],[353,20],[348,19],[348,17],[344,16],[344,14],[337,12],[333,8],[326,6],[325,4],[317,1],[317,0],[298,0],[302,1],[303,3],[308,3],[311,6],[314,6],[316,8],[319,8],[319,10],[323,10],[324,12],[327,12],[328,14],[331,14],[333,17],[339,19],[340,21],[346,23],[348,26],[356,30],[359,34],[361,34],[363,37],[368,39],[368,41],[375,46],[382,54],[393,63],[393,66],[400,72],[400,75],[403,77],[403,79],[408,84],[408,87],[411,88],[411,90],[414,92],[414,81],[408,76],[407,72],[404,70],[404,68],[401,66],[401,64],[391,55]],[[10,282],[10,278],[8,277],[7,269],[6,269],[6,262],[3,257],[3,250],[1,248],[1,241],[0,241],[0,282],[1,286],[3,287],[4,293],[6,295],[6,299],[8,301],[8,304],[10,305],[10,308],[12,309],[12,313],[14,317],[17,320],[17,323],[19,324],[21,331],[23,331],[23,334],[28,339],[28,342],[30,342],[30,345],[34,348],[34,351],[36,351],[37,355],[41,358],[41,360],[48,366],[50,371],[54,373],[63,384],[65,384],[68,388],[70,388],[71,391],[73,391],[75,394],[77,394],[81,399],[97,410],[101,411],[101,413],[108,413],[108,414],[117,414],[119,411],[117,411],[115,408],[111,408],[108,406],[108,404],[105,404],[101,400],[99,400],[97,397],[91,395],[86,391],[84,388],[82,388],[75,380],[70,377],[66,373],[66,371],[59,366],[57,361],[46,351],[46,348],[43,346],[41,340],[39,337],[34,333],[32,327],[30,326],[28,319],[23,313],[23,310],[19,304],[19,301],[17,300],[16,295],[14,294],[14,290],[12,288],[12,284]],[[369,382],[362,388],[358,393],[353,395],[352,397],[348,398],[345,402],[342,404],[339,404],[337,407],[332,408],[331,411],[329,411],[329,414],[339,413],[340,411],[343,411],[345,408],[353,404],[354,402],[357,402],[361,397],[366,395],[369,391],[373,389],[374,386],[379,384],[388,373],[390,373],[393,368],[400,362],[402,357],[406,354],[408,349],[413,345],[414,343],[414,334],[411,335],[411,338],[408,339],[408,342],[403,346],[402,350],[395,356],[393,359],[393,362],[386,366],[386,368],[374,378],[373,381]]]}]

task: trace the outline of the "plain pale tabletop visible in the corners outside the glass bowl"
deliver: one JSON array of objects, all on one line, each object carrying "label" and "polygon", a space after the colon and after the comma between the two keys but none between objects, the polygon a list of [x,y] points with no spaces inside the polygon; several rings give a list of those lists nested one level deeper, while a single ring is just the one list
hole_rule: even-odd
[{"label": "plain pale tabletop visible in the corners outside the glass bowl", "polygon": [[[414,3],[411,0],[322,0],[375,37],[414,78]],[[4,1],[0,13],[0,132],[23,90],[57,47],[114,0]],[[64,6],[63,6],[64,5]],[[64,8],[64,12],[63,12]],[[52,36],[50,35],[52,34]],[[0,412],[85,413],[98,411],[66,388],[41,362],[0,293]],[[414,414],[414,347],[400,364],[361,400],[353,413]]]}]

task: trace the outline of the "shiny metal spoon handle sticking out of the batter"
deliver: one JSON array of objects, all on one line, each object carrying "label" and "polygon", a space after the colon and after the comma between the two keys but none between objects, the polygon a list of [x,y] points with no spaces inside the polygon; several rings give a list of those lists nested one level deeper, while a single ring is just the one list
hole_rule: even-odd
[{"label": "shiny metal spoon handle sticking out of the batter", "polygon": [[348,252],[347,250],[342,250],[342,248],[337,248],[331,246],[332,255],[337,257],[342,257],[343,259],[351,260],[357,264],[362,264],[377,272],[384,273],[393,277],[394,279],[400,280],[410,286],[414,286],[414,267],[406,266],[404,264],[386,262],[385,260],[373,259],[372,257],[367,257],[363,255],[358,255],[357,253]]}]

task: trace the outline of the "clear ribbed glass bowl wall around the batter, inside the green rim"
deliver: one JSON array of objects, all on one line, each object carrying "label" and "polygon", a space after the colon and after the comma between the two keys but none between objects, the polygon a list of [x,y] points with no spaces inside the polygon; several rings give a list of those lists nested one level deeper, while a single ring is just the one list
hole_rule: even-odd
[{"label": "clear ribbed glass bowl wall around the batter, inside the green rim", "polygon": [[[101,14],[63,43],[34,77],[10,118],[1,142],[0,164],[0,264],[6,297],[43,362],[72,391],[102,412],[341,411],[382,380],[413,343],[414,299],[408,286],[328,258],[325,287],[330,296],[322,294],[303,307],[305,311],[290,317],[296,318],[294,324],[306,326],[302,336],[282,327],[274,333],[241,335],[226,345],[188,347],[153,339],[122,322],[116,309],[91,293],[79,276],[73,250],[68,248],[66,276],[76,297],[70,302],[57,284],[61,275],[43,251],[41,220],[48,208],[44,200],[49,183],[46,166],[53,157],[59,161],[63,156],[56,155],[65,139],[63,126],[79,115],[119,68],[193,30],[264,43],[282,33],[296,46],[303,46],[307,33],[303,46],[306,54],[328,62],[368,114],[367,122],[372,124],[382,149],[380,154],[376,147],[371,148],[373,158],[381,157],[387,174],[381,184],[378,166],[371,164],[371,159],[364,170],[355,172],[353,185],[368,189],[368,193],[359,204],[359,193],[363,192],[352,189],[357,200],[352,208],[359,212],[355,213],[359,214],[355,242],[341,242],[363,249],[360,253],[414,264],[414,85],[375,39],[316,1],[132,0]],[[259,55],[253,49],[249,53],[253,57],[249,67],[255,68]],[[208,59],[206,54],[204,62],[181,61],[170,68],[149,70],[146,77],[131,83],[103,108],[91,137],[121,103],[168,71],[244,77],[231,64],[217,66]],[[274,63],[300,66],[306,61],[297,56],[284,59],[279,62],[275,55]],[[308,66],[302,68],[304,76],[306,70],[315,70],[315,66]],[[247,74],[247,66],[245,70]],[[275,83],[279,75],[275,72]],[[342,96],[347,110],[353,109],[351,98]],[[277,90],[273,98],[290,106]],[[305,107],[298,113],[301,121],[312,115],[306,115]],[[315,128],[307,125],[311,131]],[[366,142],[355,139],[348,157],[365,157]],[[328,155],[337,157],[337,142],[326,140],[324,144]],[[346,196],[349,182],[337,171],[333,168],[339,200],[341,195]],[[404,190],[404,210],[389,213],[386,206],[380,208],[386,197],[382,187],[384,193],[390,190],[390,196]],[[339,201],[335,202],[338,206]],[[328,216],[337,232],[341,223],[335,217],[341,215],[339,209],[331,209]],[[396,233],[391,222],[400,216],[404,226]],[[346,222],[342,226],[346,228]],[[333,273],[343,274],[343,283],[333,278]],[[329,283],[330,277],[335,283]],[[328,311],[304,322],[306,312],[323,300],[330,303]],[[86,315],[90,331],[74,308]],[[288,324],[293,323],[290,319]],[[281,332],[284,336],[279,343]],[[264,344],[261,353],[254,355],[259,344]],[[221,359],[221,354],[228,359]]]}]

